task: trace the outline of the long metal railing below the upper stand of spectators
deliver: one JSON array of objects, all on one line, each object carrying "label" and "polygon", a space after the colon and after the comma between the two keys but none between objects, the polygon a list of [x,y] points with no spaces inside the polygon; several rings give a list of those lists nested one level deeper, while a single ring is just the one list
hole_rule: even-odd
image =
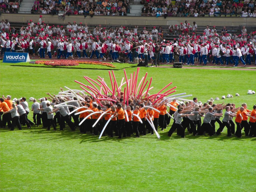
[{"label": "long metal railing below the upper stand of spectators", "polygon": [[[37,22],[39,19],[38,14],[2,14],[1,19],[8,19],[13,24],[25,24],[32,19]],[[206,19],[207,18],[207,19]],[[197,26],[255,26],[256,18],[250,17],[137,17],[137,16],[87,16],[86,18],[81,15],[70,15],[65,18],[59,18],[57,15],[43,15],[42,19],[45,23],[54,25],[66,25],[68,22],[73,23],[76,21],[77,24],[82,22],[88,25],[104,25],[104,26],[170,26],[179,25],[180,22],[188,21],[191,25],[193,21],[196,21]]]}]

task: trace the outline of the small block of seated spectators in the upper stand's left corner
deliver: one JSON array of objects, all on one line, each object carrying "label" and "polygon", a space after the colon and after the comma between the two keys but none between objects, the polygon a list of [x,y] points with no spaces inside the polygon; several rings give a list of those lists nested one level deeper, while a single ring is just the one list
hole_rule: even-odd
[{"label": "small block of seated spectators in the upper stand's left corner", "polygon": [[1,13],[18,13],[22,0],[0,0]]}]

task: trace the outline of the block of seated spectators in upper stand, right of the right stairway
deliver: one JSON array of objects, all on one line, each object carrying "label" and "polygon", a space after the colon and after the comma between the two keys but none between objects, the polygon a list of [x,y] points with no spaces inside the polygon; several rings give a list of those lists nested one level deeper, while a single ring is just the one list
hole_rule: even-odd
[{"label": "block of seated spectators in upper stand, right of the right stairway", "polygon": [[142,0],[142,16],[219,16],[256,17],[255,0]]}]

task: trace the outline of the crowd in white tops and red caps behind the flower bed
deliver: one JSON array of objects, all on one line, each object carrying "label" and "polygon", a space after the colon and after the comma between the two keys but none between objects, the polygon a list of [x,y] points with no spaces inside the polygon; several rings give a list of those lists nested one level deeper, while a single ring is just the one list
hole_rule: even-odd
[{"label": "crowd in white tops and red caps behind the flower bed", "polygon": [[89,28],[76,21],[67,26],[50,26],[43,21],[42,15],[38,23],[30,20],[26,27],[22,27],[20,35],[10,27],[8,20],[2,20],[0,28],[3,32],[1,55],[5,51],[24,51],[32,58],[38,54],[40,58],[45,55],[58,59],[95,57],[100,61],[119,59],[131,63],[134,58],[140,58],[143,66],[148,66],[150,61],[155,66],[159,66],[159,62],[255,64],[256,31],[247,31],[245,27],[239,34],[232,34],[225,26],[217,31],[215,26],[210,29],[207,25],[200,34],[195,21],[192,25],[185,21],[179,26],[169,26],[169,35],[176,36],[172,41],[165,40],[161,26],[152,30],[144,27],[141,31],[138,26],[132,29],[101,25]]}]

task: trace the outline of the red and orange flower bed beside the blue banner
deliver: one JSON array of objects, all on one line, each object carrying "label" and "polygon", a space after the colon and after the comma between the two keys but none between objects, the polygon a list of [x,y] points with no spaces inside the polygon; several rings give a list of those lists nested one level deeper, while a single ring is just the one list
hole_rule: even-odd
[{"label": "red and orange flower bed beside the blue banner", "polygon": [[35,64],[44,64],[51,66],[75,66],[79,64],[91,64],[91,65],[103,65],[115,68],[111,63],[105,63],[100,61],[79,61],[79,60],[37,60]]}]

